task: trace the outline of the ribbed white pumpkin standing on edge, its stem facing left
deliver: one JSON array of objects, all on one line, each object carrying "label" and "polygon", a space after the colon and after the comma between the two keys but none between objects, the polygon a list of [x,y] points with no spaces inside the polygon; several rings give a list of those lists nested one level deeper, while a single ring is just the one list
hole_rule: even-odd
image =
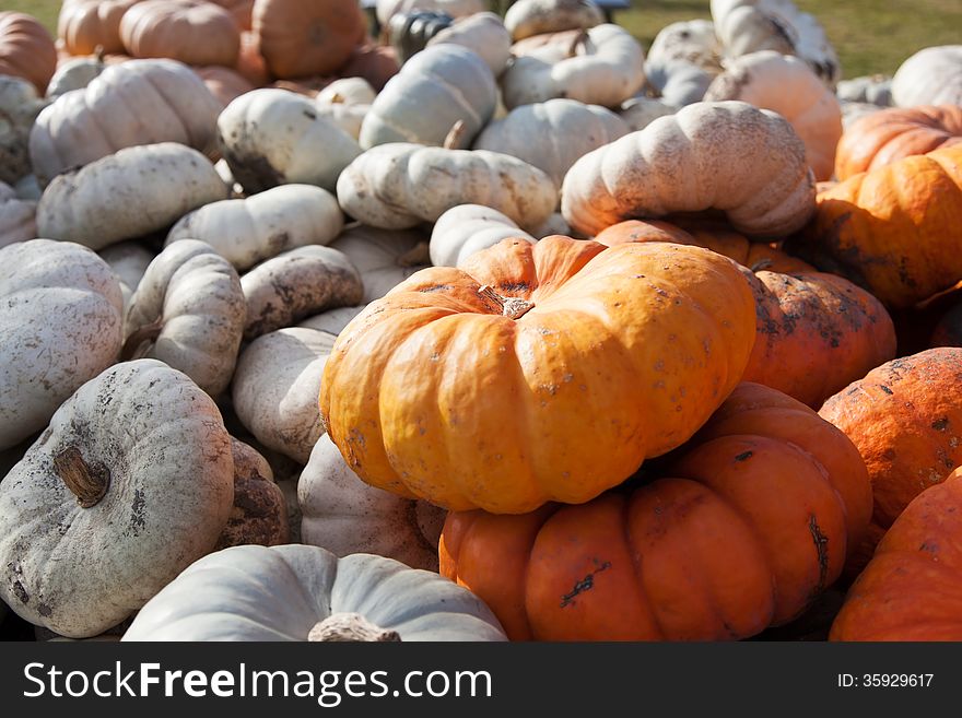
[{"label": "ribbed white pumpkin standing on edge, its stem facing left", "polygon": [[130,299],[124,354],[160,360],[213,397],[234,375],[246,317],[231,262],[203,242],[175,242],[150,263]]}]

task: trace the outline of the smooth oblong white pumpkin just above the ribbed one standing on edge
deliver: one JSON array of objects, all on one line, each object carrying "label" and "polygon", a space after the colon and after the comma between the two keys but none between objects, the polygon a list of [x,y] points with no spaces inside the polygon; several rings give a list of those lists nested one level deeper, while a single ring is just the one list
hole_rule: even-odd
[{"label": "smooth oblong white pumpkin just above the ribbed one standing on edge", "polygon": [[288,249],[326,245],[343,226],[338,202],[326,189],[281,185],[183,215],[167,234],[166,244],[200,239],[244,270]]}]

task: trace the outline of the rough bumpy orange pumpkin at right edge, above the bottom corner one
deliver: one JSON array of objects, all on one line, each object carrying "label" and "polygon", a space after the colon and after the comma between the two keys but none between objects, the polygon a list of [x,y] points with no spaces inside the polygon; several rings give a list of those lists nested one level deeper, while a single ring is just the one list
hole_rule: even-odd
[{"label": "rough bumpy orange pumpkin at right edge, above the bottom corner one", "polygon": [[930,349],[872,369],[819,411],[858,447],[872,482],[872,522],[850,574],[913,498],[962,464],[960,387],[962,349]]}]

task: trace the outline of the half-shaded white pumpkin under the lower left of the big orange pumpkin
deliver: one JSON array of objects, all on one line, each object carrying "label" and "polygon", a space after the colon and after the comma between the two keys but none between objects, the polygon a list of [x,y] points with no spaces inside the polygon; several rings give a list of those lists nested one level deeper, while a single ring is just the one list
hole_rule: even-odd
[{"label": "half-shaded white pumpkin under the lower left of the big orange pumpkin", "polygon": [[301,473],[297,501],[304,543],[339,556],[373,553],[412,568],[437,570],[444,509],[368,486],[326,435],[314,445]]}]

